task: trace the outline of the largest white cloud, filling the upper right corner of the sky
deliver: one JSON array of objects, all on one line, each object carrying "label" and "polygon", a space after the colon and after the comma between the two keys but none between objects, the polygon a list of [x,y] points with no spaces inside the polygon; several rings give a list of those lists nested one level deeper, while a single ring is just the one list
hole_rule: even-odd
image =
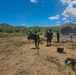
[{"label": "largest white cloud, filling the upper right corner of the sky", "polygon": [[76,5],[76,0],[61,0],[61,2],[68,5],[62,15],[65,17],[76,17],[76,7],[73,7]]}]

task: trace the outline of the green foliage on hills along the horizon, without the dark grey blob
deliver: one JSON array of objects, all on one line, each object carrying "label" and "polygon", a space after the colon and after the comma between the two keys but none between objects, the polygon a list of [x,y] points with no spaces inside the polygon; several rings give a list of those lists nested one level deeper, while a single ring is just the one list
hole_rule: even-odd
[{"label": "green foliage on hills along the horizon, without the dark grey blob", "polygon": [[6,32],[6,33],[12,33],[13,35],[26,35],[29,34],[29,32],[31,31],[32,33],[34,33],[35,31],[39,31],[40,34],[45,34],[46,30],[48,30],[49,28],[52,29],[52,32],[56,32],[58,30],[60,30],[63,27],[68,27],[68,26],[72,26],[72,28],[76,28],[75,24],[64,24],[61,26],[54,26],[54,27],[39,27],[37,25],[34,25],[33,27],[24,27],[24,26],[11,26],[9,24],[6,23],[2,23],[0,24],[0,32]]}]

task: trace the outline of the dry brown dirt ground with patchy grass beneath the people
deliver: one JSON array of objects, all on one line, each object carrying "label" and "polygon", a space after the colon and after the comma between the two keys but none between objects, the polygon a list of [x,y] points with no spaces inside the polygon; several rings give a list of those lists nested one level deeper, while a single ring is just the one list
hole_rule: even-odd
[{"label": "dry brown dirt ground with patchy grass beneath the people", "polygon": [[[76,44],[55,41],[50,47],[42,41],[37,54],[34,41],[27,37],[0,38],[0,75],[76,75],[76,70],[65,65],[67,58],[76,59]],[[64,53],[58,53],[57,47],[63,47]]]}]

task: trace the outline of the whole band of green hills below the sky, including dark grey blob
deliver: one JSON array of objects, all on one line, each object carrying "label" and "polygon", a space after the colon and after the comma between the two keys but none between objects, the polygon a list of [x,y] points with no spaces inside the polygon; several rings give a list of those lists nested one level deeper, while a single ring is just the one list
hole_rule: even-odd
[{"label": "whole band of green hills below the sky, including dark grey blob", "polygon": [[36,25],[33,27],[12,26],[7,23],[2,23],[0,24],[0,36],[25,36],[28,35],[30,31],[33,33],[35,31],[39,31],[40,34],[45,34],[46,30],[48,30],[49,28],[52,29],[52,32],[56,32],[60,29],[62,34],[76,33],[76,24],[72,23],[53,27],[39,27]]}]

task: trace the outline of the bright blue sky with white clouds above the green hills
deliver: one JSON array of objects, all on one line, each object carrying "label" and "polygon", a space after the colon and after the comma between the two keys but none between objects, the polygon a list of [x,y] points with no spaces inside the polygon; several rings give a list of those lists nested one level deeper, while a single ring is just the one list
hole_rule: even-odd
[{"label": "bright blue sky with white clouds above the green hills", "polygon": [[0,0],[0,23],[58,26],[76,17],[76,0]]}]

